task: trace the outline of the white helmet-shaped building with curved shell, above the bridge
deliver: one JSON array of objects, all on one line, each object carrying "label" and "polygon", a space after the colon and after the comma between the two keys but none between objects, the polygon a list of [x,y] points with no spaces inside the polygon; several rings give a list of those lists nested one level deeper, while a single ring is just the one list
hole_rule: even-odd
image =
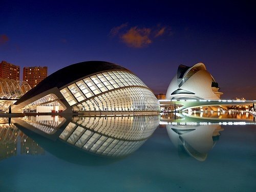
[{"label": "white helmet-shaped building with curved shell, above the bridge", "polygon": [[192,67],[180,65],[177,75],[170,82],[166,99],[212,99],[219,100],[218,83],[206,71],[203,63]]}]

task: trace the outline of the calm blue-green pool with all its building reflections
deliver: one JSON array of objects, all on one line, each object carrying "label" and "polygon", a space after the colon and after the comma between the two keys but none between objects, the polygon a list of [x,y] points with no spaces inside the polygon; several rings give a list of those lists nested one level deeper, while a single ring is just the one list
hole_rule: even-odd
[{"label": "calm blue-green pool with all its building reflections", "polygon": [[0,191],[256,190],[248,113],[1,120]]}]

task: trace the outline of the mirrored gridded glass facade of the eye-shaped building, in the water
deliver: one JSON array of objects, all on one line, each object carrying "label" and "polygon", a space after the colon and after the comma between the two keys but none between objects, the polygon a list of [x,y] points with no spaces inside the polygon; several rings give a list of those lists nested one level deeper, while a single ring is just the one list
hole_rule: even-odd
[{"label": "mirrored gridded glass facade of the eye-shaped building, in the water", "polygon": [[72,119],[59,138],[82,150],[107,157],[135,152],[156,130],[159,116],[105,116]]}]

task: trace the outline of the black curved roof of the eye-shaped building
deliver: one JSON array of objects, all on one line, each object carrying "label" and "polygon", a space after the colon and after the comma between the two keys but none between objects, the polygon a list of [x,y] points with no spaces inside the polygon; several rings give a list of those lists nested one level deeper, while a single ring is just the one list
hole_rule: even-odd
[{"label": "black curved roof of the eye-shaped building", "polygon": [[124,67],[121,67],[119,65],[116,65],[111,62],[106,62],[106,61],[84,61],[84,62],[75,63],[73,65],[62,68],[52,73],[48,77],[46,77],[44,80],[38,83],[36,87],[31,89],[29,92],[27,92],[23,97],[17,100],[14,104],[22,103],[33,96],[36,96],[42,92],[45,92],[55,87],[60,89],[63,86],[66,86],[67,84],[77,79],[86,77],[88,75],[92,75],[94,73],[99,73],[103,71],[112,71],[112,70],[129,71]]}]

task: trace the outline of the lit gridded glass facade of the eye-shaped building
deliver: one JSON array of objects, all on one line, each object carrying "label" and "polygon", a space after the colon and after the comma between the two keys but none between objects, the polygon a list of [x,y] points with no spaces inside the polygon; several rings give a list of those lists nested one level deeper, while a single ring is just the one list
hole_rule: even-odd
[{"label": "lit gridded glass facade of the eye-shaped building", "polygon": [[108,71],[60,90],[74,111],[159,111],[150,89],[129,71]]}]

